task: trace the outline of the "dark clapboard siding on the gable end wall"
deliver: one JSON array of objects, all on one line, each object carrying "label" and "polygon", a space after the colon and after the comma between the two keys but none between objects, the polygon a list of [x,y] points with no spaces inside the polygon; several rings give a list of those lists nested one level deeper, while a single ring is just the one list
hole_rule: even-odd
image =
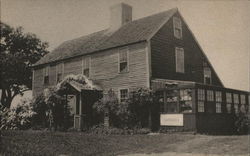
[{"label": "dark clapboard siding on the gable end wall", "polygon": [[[174,16],[180,17],[177,13]],[[187,25],[182,21],[182,39],[176,39],[171,18],[151,39],[152,78],[204,82],[203,61],[208,62]],[[175,47],[184,48],[185,73],[176,73]],[[214,70],[212,84],[222,86]]]}]

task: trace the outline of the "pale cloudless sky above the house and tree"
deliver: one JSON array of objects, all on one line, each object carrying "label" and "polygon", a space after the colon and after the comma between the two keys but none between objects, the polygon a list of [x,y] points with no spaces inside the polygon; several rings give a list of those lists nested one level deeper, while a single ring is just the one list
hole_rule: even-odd
[{"label": "pale cloudless sky above the house and tree", "polygon": [[248,0],[1,0],[1,21],[22,26],[53,50],[109,27],[110,7],[133,7],[133,20],[177,7],[227,88],[250,91]]}]

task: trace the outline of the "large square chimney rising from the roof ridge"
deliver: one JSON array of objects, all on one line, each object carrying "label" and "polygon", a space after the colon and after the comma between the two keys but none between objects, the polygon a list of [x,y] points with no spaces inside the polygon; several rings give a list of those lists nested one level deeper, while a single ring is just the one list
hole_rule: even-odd
[{"label": "large square chimney rising from the roof ridge", "polygon": [[132,7],[119,3],[110,7],[110,30],[119,29],[122,25],[132,21]]}]

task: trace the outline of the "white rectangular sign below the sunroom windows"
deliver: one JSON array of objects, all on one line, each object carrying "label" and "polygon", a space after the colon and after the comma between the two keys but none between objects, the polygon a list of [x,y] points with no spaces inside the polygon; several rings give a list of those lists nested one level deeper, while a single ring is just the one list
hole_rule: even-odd
[{"label": "white rectangular sign below the sunroom windows", "polygon": [[183,126],[183,114],[161,114],[161,126]]}]

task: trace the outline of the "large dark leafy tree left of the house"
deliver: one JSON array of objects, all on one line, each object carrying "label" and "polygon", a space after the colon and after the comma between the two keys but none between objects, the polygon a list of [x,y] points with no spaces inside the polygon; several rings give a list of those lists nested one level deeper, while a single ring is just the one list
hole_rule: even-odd
[{"label": "large dark leafy tree left of the house", "polygon": [[48,53],[48,43],[35,34],[23,33],[23,28],[12,28],[0,22],[1,26],[1,105],[10,108],[16,95],[32,87],[31,66]]}]

